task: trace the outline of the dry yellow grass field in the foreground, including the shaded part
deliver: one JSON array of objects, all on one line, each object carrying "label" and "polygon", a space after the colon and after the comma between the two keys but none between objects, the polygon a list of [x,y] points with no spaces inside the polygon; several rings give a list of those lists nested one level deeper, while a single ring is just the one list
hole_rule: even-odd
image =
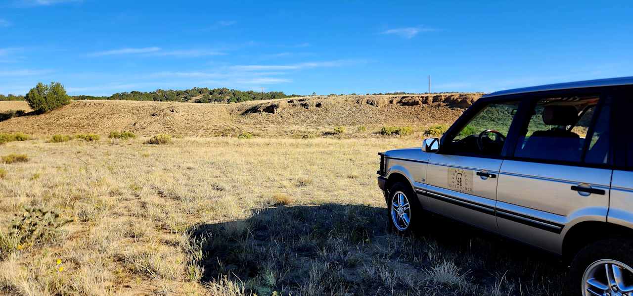
[{"label": "dry yellow grass field in the foreground, including the shaded part", "polygon": [[555,259],[494,236],[437,217],[388,231],[376,153],[419,136],[49,138],[0,146],[28,158],[0,163],[0,293],[560,293]]}]

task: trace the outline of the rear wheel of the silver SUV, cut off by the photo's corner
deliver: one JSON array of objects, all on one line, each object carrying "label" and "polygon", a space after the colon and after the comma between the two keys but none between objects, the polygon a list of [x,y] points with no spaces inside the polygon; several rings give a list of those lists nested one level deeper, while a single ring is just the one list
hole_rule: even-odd
[{"label": "rear wheel of the silver SUV, cut off by the photo's corner", "polygon": [[[613,270],[614,265],[624,274],[624,284],[633,285],[633,240],[611,238],[582,248],[573,258],[564,295],[603,295],[603,292],[608,291],[609,295],[633,296],[633,291],[629,291],[631,289],[622,291],[617,285],[615,288],[613,285],[605,285],[609,283],[607,273]],[[589,279],[593,279],[594,285],[587,284]],[[598,284],[608,290],[597,288]],[[587,292],[587,286],[592,286],[592,290],[599,294]]]}]

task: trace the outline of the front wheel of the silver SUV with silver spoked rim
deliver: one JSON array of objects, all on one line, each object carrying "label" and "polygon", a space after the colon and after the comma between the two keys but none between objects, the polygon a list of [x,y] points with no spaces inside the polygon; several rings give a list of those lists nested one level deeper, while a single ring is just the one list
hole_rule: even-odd
[{"label": "front wheel of the silver SUV with silver spoked rim", "polygon": [[409,184],[398,182],[388,192],[387,214],[391,230],[403,235],[418,230],[424,214],[415,191]]}]

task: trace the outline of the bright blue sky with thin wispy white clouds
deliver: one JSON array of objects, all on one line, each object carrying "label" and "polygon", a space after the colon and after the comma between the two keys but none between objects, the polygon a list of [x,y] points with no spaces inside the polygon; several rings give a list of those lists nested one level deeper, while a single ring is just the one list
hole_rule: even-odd
[{"label": "bright blue sky with thin wispy white clouds", "polygon": [[633,75],[630,1],[0,0],[0,93],[484,91]]}]

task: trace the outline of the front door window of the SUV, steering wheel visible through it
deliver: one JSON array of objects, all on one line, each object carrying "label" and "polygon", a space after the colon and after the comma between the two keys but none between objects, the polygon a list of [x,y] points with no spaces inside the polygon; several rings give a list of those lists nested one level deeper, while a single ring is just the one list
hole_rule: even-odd
[{"label": "front door window of the SUV, steering wheel visible through it", "polygon": [[468,120],[452,139],[449,153],[500,155],[520,102],[490,103]]}]

